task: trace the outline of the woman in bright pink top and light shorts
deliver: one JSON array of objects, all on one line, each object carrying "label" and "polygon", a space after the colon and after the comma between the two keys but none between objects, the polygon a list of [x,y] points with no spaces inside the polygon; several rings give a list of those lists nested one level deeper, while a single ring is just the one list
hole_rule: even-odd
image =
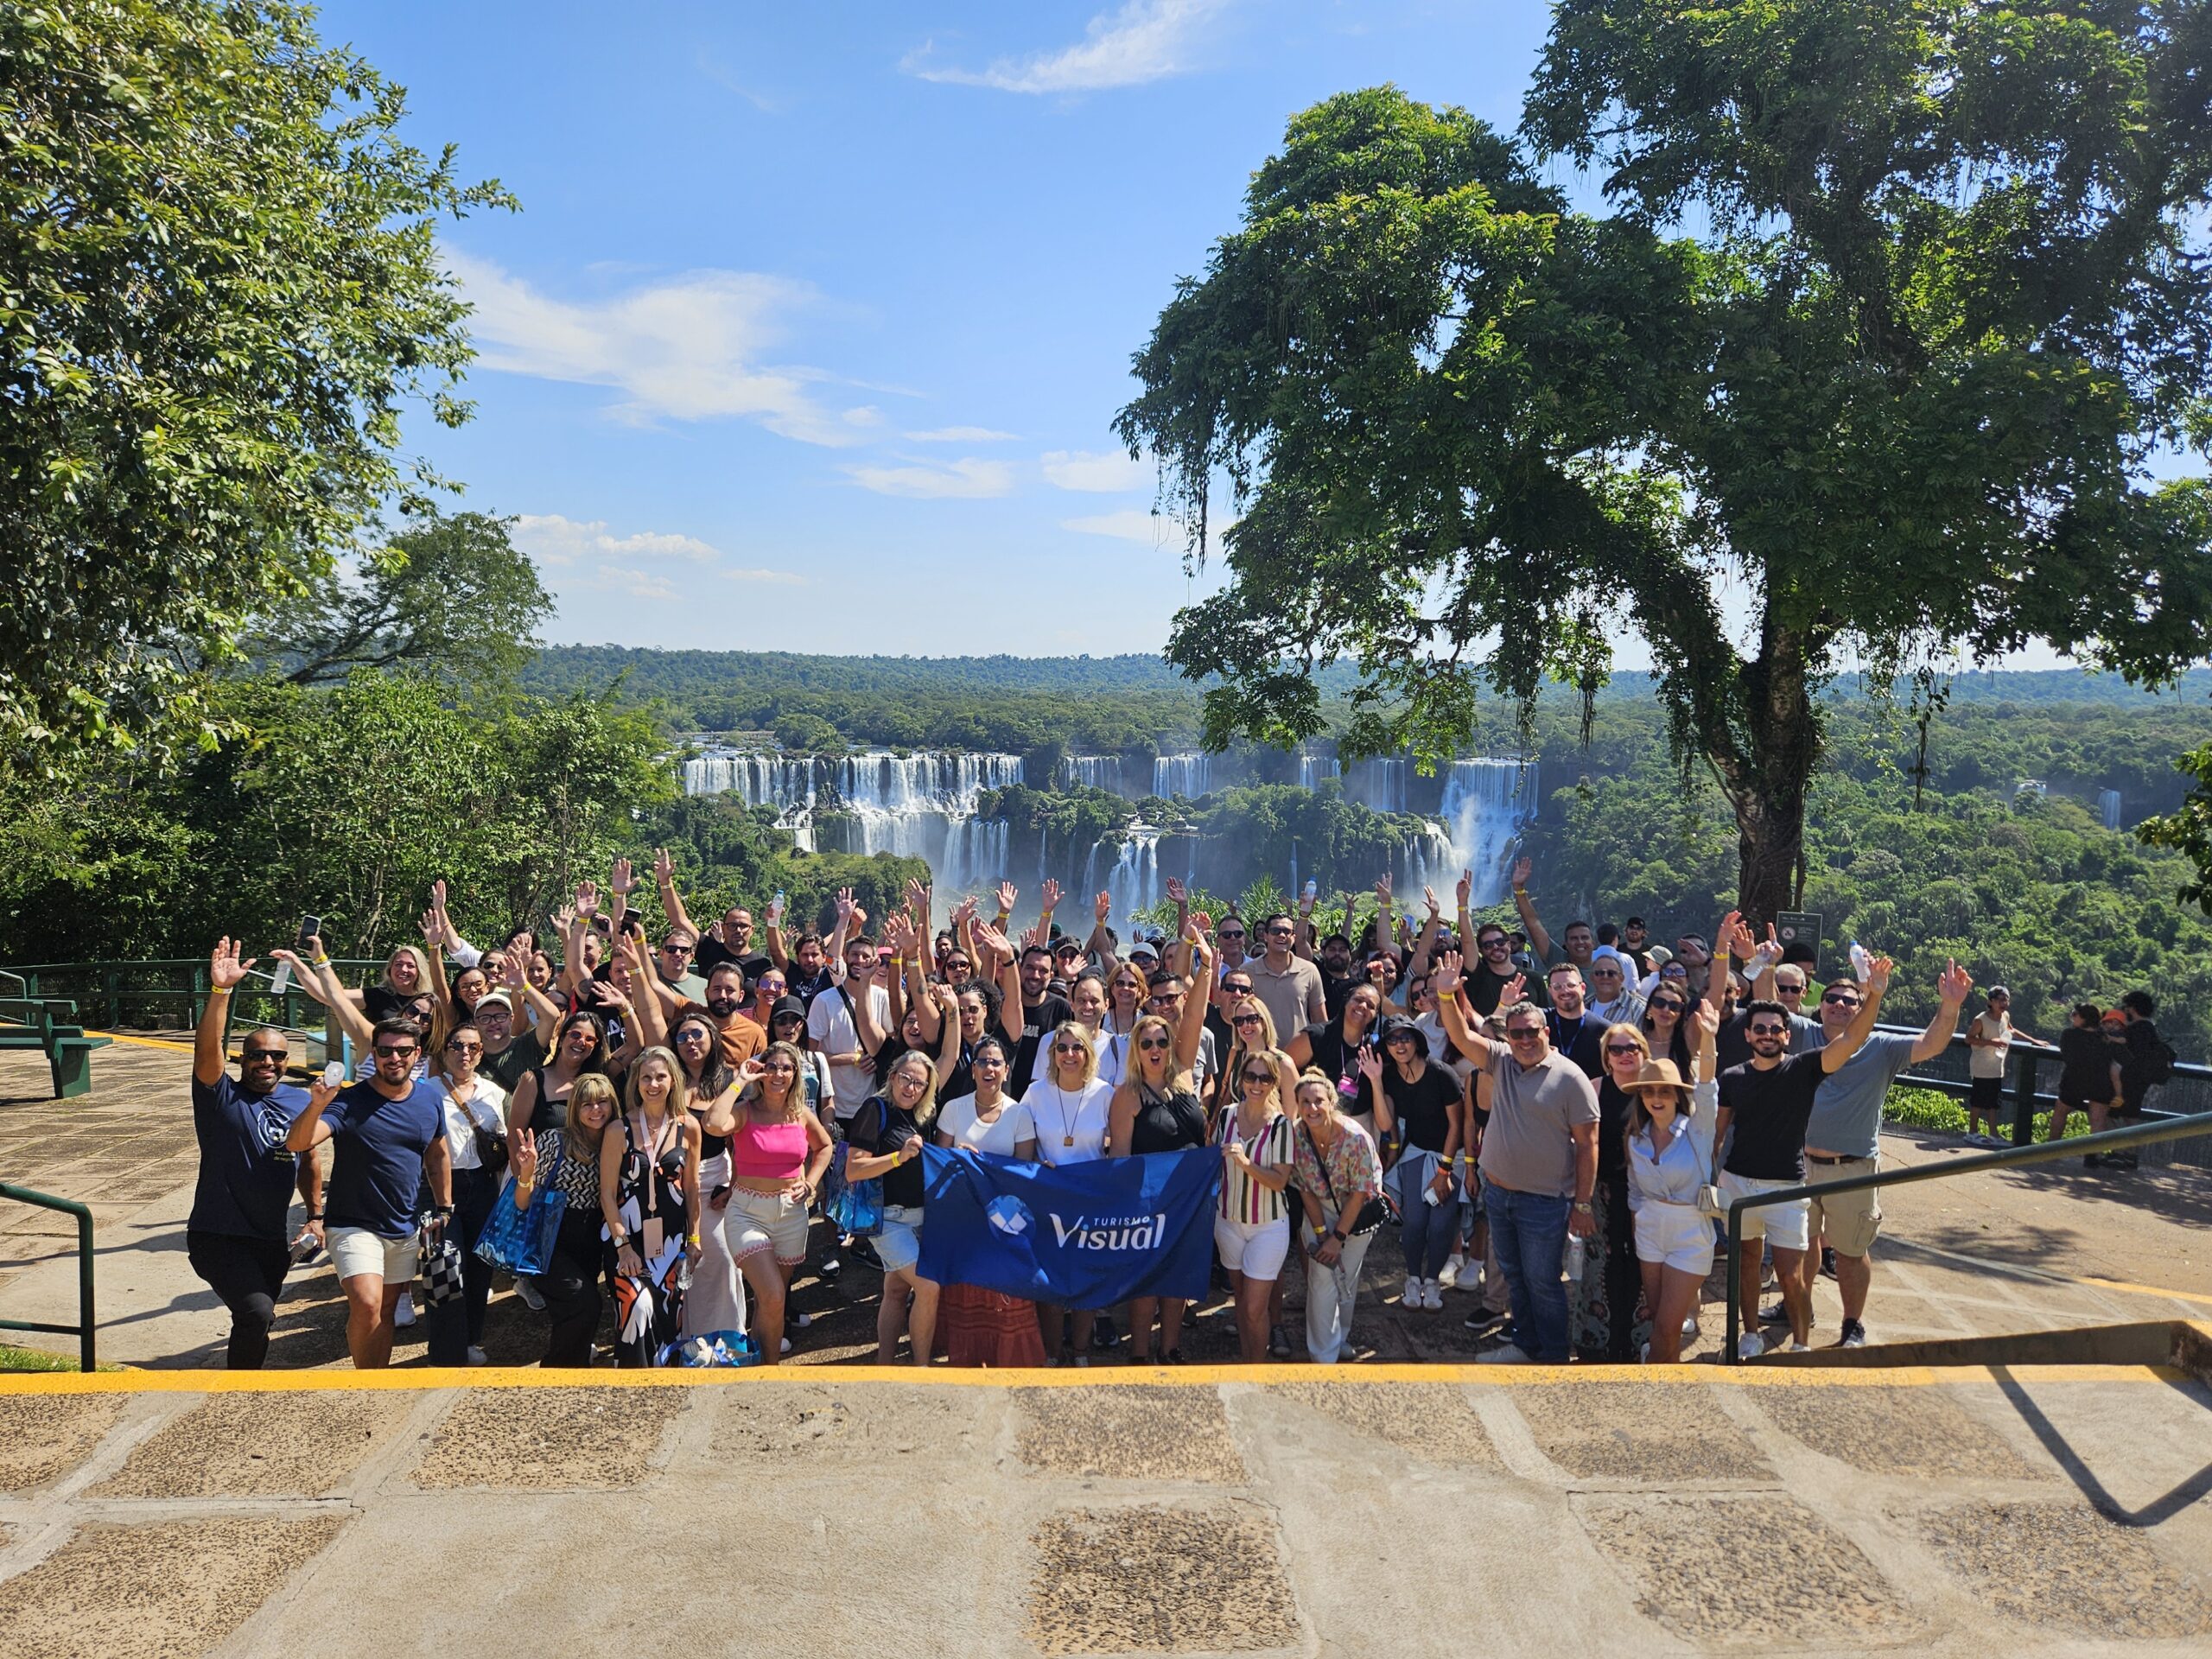
[{"label": "woman in bright pink top and light shorts", "polygon": [[706,1115],[708,1135],[730,1137],[730,1214],[723,1234],[752,1292],[752,1336],[761,1363],[785,1349],[783,1303],[807,1259],[807,1206],[830,1168],[830,1130],[807,1110],[805,1055],[787,1042],[745,1066],[741,1088]]}]

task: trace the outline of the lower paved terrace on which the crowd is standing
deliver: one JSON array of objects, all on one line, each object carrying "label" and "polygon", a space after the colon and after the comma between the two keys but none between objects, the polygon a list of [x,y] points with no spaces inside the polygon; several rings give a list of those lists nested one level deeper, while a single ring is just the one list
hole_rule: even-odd
[{"label": "lower paved terrace on which the crowd is standing", "polygon": [[[192,1201],[190,1055],[177,1046],[117,1042],[93,1057],[93,1093],[46,1097],[40,1055],[0,1055],[0,1179],[84,1199],[97,1221],[100,1352],[146,1367],[221,1365],[228,1316],[184,1259]],[[1891,1166],[1960,1157],[1958,1137],[1905,1130],[1885,1137]],[[2079,1164],[1896,1188],[1876,1248],[1867,1323],[1876,1340],[2057,1329],[2139,1318],[2212,1316],[2212,1170],[2177,1166],[2106,1175]],[[75,1318],[75,1232],[66,1217],[0,1203],[0,1316]],[[1402,1259],[1394,1230],[1367,1254],[1356,1336],[1367,1360],[1469,1360],[1478,1338],[1464,1318],[1475,1298],[1447,1292],[1444,1312],[1398,1305]],[[794,1307],[814,1323],[792,1332],[794,1363],[852,1365],[874,1358],[878,1279],[865,1263],[834,1285],[803,1274]],[[1721,1336],[1721,1285],[1708,1285],[1703,1336]],[[1296,1329],[1301,1285],[1287,1285]],[[1816,1292],[1816,1340],[1834,1332],[1834,1285]],[[66,1336],[18,1338],[73,1352]],[[533,1363],[544,1318],[513,1292],[491,1303],[484,1347],[493,1363]],[[1194,1363],[1237,1356],[1228,1303],[1214,1296],[1190,1325]],[[285,1285],[270,1365],[345,1367],[345,1303],[327,1263]],[[398,1365],[422,1365],[422,1327],[400,1334]],[[1113,1365],[1102,1356],[1104,1365]]]}]

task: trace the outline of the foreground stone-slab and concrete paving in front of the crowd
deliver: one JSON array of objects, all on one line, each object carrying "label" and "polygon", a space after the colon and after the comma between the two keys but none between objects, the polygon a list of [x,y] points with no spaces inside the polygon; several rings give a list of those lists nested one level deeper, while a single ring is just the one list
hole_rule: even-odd
[{"label": "foreground stone-slab and concrete paving in front of the crowd", "polygon": [[2212,1394],[2170,1371],[1500,1369],[0,1378],[0,1630],[44,1659],[2212,1641]]}]

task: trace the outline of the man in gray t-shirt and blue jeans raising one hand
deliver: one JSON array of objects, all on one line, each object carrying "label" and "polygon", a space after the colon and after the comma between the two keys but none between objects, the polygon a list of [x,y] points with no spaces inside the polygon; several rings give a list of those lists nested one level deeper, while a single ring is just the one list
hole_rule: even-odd
[{"label": "man in gray t-shirt and blue jeans raising one hand", "polygon": [[1553,1053],[1544,1011],[1513,1002],[1506,1040],[1491,1042],[1460,995],[1460,956],[1447,951],[1429,975],[1444,1031],[1491,1079],[1491,1121],[1482,1130],[1482,1212],[1513,1301],[1511,1338],[1482,1360],[1564,1365],[1566,1237],[1590,1237],[1597,1221],[1597,1091],[1566,1055]]}]

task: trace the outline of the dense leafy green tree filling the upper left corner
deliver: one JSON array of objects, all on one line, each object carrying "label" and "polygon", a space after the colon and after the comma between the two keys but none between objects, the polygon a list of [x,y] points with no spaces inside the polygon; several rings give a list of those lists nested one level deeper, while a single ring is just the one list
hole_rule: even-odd
[{"label": "dense leafy green tree filling the upper left corner", "polygon": [[290,0],[0,11],[0,754],[206,728],[197,664],[434,482],[469,361],[434,228],[507,204]]}]

